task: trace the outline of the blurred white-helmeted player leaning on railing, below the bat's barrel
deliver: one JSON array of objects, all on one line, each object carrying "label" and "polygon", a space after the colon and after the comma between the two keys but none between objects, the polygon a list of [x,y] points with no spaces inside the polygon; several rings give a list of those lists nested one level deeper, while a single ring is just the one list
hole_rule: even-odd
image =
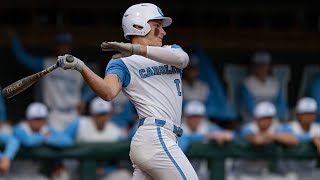
[{"label": "blurred white-helmeted player leaning on railing, below the bat's barrel", "polygon": [[[48,145],[57,148],[69,147],[72,139],[47,125],[47,107],[39,102],[31,103],[26,110],[26,120],[17,124],[14,135],[24,147],[32,148]],[[12,167],[13,179],[48,179],[39,173],[37,160],[16,160]]]}]

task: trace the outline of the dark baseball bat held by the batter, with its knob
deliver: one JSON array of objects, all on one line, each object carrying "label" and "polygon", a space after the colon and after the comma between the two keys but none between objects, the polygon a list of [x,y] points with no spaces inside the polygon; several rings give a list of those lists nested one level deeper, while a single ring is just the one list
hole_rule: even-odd
[{"label": "dark baseball bat held by the batter, with its knob", "polygon": [[[73,56],[67,56],[67,61],[68,62],[73,62]],[[58,65],[54,64],[38,73],[32,74],[28,77],[25,77],[23,79],[20,79],[12,84],[10,84],[9,86],[5,87],[2,90],[2,95],[3,97],[5,97],[6,99],[10,99],[13,96],[21,93],[22,91],[26,90],[27,88],[29,88],[31,85],[33,85],[34,83],[36,83],[40,78],[42,78],[43,76],[45,76],[46,74],[52,72],[53,70],[57,69]]]}]

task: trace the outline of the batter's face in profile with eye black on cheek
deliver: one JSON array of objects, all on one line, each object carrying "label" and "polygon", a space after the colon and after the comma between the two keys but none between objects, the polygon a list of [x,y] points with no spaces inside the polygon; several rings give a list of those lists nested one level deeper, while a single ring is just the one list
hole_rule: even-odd
[{"label": "batter's face in profile with eye black on cheek", "polygon": [[148,24],[151,27],[150,32],[144,36],[149,46],[162,46],[162,40],[166,35],[162,27],[162,20],[150,20]]}]

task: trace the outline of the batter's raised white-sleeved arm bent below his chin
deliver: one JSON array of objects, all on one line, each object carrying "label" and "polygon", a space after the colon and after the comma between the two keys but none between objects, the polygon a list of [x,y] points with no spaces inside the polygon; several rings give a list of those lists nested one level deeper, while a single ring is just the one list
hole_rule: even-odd
[{"label": "batter's raised white-sleeved arm bent below his chin", "polygon": [[141,54],[159,63],[168,64],[183,69],[189,63],[189,56],[179,48],[163,48],[156,46],[142,46]]}]

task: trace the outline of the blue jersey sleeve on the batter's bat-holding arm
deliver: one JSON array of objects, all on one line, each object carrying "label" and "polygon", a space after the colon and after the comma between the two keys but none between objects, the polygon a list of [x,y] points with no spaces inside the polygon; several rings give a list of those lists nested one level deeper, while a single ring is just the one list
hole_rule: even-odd
[{"label": "blue jersey sleeve on the batter's bat-holding arm", "polygon": [[127,87],[130,84],[130,72],[122,59],[112,59],[107,68],[105,75],[116,74],[121,80],[122,87]]}]

